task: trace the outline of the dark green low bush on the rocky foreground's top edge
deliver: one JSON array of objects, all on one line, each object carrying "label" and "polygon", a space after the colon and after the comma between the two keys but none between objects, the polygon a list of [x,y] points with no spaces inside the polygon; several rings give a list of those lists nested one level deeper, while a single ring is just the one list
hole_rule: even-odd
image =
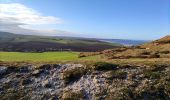
[{"label": "dark green low bush on the rocky foreground's top edge", "polygon": [[97,62],[93,65],[93,69],[94,70],[98,70],[98,71],[107,71],[107,70],[115,70],[117,69],[116,64],[111,64],[111,63],[107,63],[107,62]]}]

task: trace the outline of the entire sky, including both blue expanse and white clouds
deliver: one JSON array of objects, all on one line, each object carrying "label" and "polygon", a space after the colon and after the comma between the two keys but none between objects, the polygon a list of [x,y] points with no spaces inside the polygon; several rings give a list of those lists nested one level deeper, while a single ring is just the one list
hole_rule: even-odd
[{"label": "entire sky, including both blue expanse and white clouds", "polygon": [[153,40],[170,35],[170,0],[0,0],[0,31]]}]

